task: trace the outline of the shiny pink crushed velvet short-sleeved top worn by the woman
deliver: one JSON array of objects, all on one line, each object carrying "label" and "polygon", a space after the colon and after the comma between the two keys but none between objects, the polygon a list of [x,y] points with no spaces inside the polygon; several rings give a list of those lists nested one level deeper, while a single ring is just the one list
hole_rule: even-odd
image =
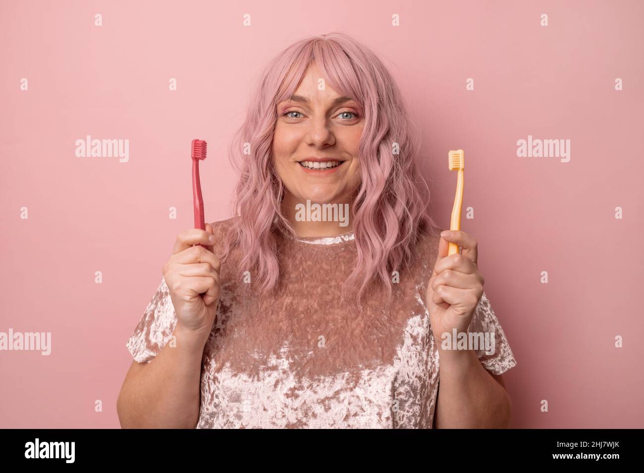
[{"label": "shiny pink crushed velvet short-sleeved top worn by the woman", "polygon": [[[211,225],[218,234],[230,223]],[[422,237],[412,268],[393,284],[392,304],[372,289],[363,314],[339,303],[354,268],[354,234],[294,239],[279,233],[278,241],[280,281],[270,300],[243,282],[239,254],[222,264],[197,428],[431,428],[439,355],[424,298],[439,236]],[[162,280],[128,340],[133,358],[153,360],[175,325]],[[485,293],[469,331],[495,333],[492,355],[476,351],[488,371],[500,375],[516,365]]]}]

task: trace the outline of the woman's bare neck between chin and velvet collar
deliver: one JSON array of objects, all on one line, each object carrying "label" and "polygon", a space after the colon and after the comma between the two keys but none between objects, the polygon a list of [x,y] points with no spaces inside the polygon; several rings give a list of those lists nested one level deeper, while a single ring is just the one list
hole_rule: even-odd
[{"label": "woman's bare neck between chin and velvet collar", "polygon": [[351,204],[341,201],[330,204],[307,204],[306,201],[296,201],[287,194],[282,200],[281,210],[298,237],[329,237],[352,232]]}]

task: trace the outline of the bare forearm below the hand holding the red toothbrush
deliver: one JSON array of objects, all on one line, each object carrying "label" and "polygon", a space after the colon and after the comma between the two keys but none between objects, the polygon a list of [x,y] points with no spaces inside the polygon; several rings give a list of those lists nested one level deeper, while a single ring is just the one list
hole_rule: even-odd
[{"label": "bare forearm below the hand holding the red toothbrush", "polygon": [[126,379],[118,396],[125,429],[193,429],[200,409],[204,337],[175,328],[176,346],[166,344],[146,366]]}]

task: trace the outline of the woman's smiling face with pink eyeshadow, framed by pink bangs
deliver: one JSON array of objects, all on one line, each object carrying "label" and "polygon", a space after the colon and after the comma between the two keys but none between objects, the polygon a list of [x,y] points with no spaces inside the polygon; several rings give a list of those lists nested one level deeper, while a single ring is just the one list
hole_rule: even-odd
[{"label": "woman's smiling face with pink eyeshadow, framed by pink bangs", "polygon": [[[365,124],[357,102],[330,88],[313,62],[276,113],[272,162],[285,187],[285,210],[307,199],[350,203],[360,182],[358,147]],[[303,167],[305,162],[313,169]]]}]

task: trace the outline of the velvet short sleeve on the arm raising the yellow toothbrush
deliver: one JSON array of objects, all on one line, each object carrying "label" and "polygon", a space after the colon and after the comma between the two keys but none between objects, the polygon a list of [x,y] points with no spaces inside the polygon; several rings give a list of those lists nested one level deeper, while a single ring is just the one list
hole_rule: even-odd
[{"label": "velvet short sleeve on the arm raising the yellow toothbrush", "polygon": [[[511,367],[516,366],[515,355],[512,353],[506,334],[498,322],[497,316],[492,309],[488,296],[484,292],[478,301],[477,308],[469,323],[469,333],[483,333],[489,340],[487,346],[491,347],[492,336],[494,337],[494,349],[477,349],[478,360],[481,364],[495,375],[505,373]],[[492,353],[493,352],[493,353]]]}]

